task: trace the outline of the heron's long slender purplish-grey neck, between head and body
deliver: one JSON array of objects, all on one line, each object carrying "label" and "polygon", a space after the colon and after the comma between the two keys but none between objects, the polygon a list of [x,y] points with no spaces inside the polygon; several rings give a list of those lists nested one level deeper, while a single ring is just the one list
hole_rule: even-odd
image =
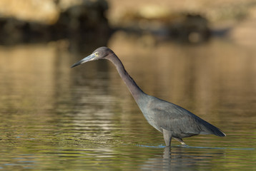
[{"label": "heron's long slender purplish-grey neck, between head and body", "polygon": [[107,59],[109,61],[112,61],[112,63],[114,63],[114,66],[117,67],[119,75],[121,76],[124,83],[127,85],[129,91],[132,93],[132,96],[136,101],[139,100],[139,97],[145,95],[145,93],[139,88],[139,86],[137,86],[137,83],[135,83],[132,77],[129,76],[129,73],[127,73],[127,71],[125,70],[124,65],[115,54]]}]

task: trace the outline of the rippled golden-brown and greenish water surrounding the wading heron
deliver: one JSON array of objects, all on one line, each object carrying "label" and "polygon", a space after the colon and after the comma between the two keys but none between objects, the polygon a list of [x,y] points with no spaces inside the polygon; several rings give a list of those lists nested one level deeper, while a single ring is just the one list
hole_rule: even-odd
[{"label": "rippled golden-brown and greenish water surrounding the wading heron", "polygon": [[172,140],[169,150],[112,63],[69,68],[93,48],[2,46],[0,170],[256,170],[255,48],[223,40],[147,47],[122,36],[108,46],[145,92],[227,137],[186,138],[187,147]]}]

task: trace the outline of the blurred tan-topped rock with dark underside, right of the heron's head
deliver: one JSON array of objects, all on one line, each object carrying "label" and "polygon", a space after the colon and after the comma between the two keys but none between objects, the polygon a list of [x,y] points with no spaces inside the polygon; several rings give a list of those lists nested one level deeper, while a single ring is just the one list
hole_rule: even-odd
[{"label": "blurred tan-topped rock with dark underside, right of the heron's head", "polygon": [[127,32],[152,33],[179,42],[201,43],[210,38],[208,21],[199,14],[172,13],[159,6],[144,6],[138,11],[127,11],[119,18],[119,29]]}]

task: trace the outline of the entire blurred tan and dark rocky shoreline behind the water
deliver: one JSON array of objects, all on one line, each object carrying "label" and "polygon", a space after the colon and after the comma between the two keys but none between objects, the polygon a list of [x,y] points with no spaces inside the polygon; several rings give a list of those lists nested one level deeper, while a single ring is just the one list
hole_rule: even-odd
[{"label": "entire blurred tan and dark rocky shoreline behind the water", "polygon": [[[136,2],[136,3],[135,3]],[[145,46],[162,41],[205,43],[213,37],[253,46],[256,5],[247,1],[26,0],[0,2],[2,45],[93,41],[124,32]],[[94,39],[97,35],[100,38]],[[83,43],[83,45],[82,45]],[[90,42],[92,43],[92,42]]]}]

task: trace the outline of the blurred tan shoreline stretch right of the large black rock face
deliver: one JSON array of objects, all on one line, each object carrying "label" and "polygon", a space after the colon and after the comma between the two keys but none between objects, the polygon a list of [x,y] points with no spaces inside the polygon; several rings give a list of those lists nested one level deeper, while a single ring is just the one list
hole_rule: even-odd
[{"label": "blurred tan shoreline stretch right of the large black rock face", "polygon": [[[255,11],[255,0],[109,0],[109,3],[112,6],[108,14],[110,25],[126,33],[140,36],[151,32],[160,40],[169,37],[192,43],[207,41],[212,36],[231,37],[239,43],[255,39],[255,20],[251,15],[251,11]],[[207,24],[204,24],[205,19]],[[192,28],[194,26],[196,28]]]}]

